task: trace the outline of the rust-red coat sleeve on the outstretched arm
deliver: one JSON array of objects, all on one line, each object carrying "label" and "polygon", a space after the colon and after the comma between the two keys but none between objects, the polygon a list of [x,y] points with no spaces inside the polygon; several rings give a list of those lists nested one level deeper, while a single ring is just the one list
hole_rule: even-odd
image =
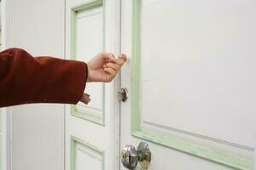
[{"label": "rust-red coat sleeve on the outstretched arm", "polygon": [[0,107],[30,103],[76,104],[87,79],[81,61],[35,57],[20,48],[0,53]]}]

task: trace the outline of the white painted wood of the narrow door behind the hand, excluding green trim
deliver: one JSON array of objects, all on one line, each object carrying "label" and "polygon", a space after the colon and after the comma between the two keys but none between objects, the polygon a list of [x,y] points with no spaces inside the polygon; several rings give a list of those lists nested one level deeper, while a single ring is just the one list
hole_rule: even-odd
[{"label": "white painted wood of the narrow door behind the hand, excluding green trim", "polygon": [[[66,58],[69,59],[70,54],[70,11],[73,7],[89,3],[90,0],[66,0]],[[77,41],[78,59],[88,61],[91,57],[103,50],[102,44],[102,8],[89,9],[88,11],[79,12]],[[98,14],[95,14],[99,12]],[[88,15],[86,15],[88,14]],[[90,14],[90,15],[89,15]],[[86,16],[86,17],[84,17]],[[106,37],[105,49],[108,52],[119,53],[119,1],[106,1],[105,3],[105,20],[106,20]],[[78,21],[78,20],[77,20]],[[102,93],[98,90],[100,85],[87,83],[85,92],[91,93],[92,105],[94,108],[102,109]],[[105,155],[105,170],[119,169],[119,102],[117,100],[118,82],[114,81],[105,84],[105,126],[87,121],[70,113],[70,105],[66,105],[66,169],[70,169],[71,136],[81,139],[88,144],[96,146],[103,150]],[[87,91],[88,90],[88,91]],[[96,90],[98,90],[96,92]],[[84,111],[88,111],[88,106],[84,107]],[[81,107],[80,107],[81,108]],[[102,114],[102,113],[100,113]],[[95,154],[91,153],[91,154]],[[75,159],[75,169],[102,169],[101,162],[91,158],[90,153],[82,152],[77,149],[77,157]]]}]

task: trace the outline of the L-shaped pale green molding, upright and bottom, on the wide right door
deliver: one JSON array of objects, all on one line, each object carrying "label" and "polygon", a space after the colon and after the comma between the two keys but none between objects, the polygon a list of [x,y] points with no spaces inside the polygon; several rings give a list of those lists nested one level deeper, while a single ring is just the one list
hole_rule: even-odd
[{"label": "L-shaped pale green molding, upright and bottom, on the wide right door", "polygon": [[241,170],[253,170],[251,158],[236,156],[224,150],[212,150],[211,148],[189,143],[185,140],[171,138],[165,134],[150,132],[142,129],[140,108],[140,64],[141,64],[141,0],[133,0],[132,17],[132,63],[131,63],[131,135],[139,139],[148,140],[170,149],[179,150],[191,156],[201,157],[208,161],[233,167]]}]

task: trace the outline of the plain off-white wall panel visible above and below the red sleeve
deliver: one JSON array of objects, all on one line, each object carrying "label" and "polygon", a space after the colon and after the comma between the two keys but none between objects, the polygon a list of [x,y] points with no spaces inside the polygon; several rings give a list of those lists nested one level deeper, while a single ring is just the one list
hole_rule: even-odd
[{"label": "plain off-white wall panel visible above and below the red sleeve", "polygon": [[[11,0],[10,46],[64,57],[64,1]],[[12,108],[12,169],[64,169],[64,105]]]}]

